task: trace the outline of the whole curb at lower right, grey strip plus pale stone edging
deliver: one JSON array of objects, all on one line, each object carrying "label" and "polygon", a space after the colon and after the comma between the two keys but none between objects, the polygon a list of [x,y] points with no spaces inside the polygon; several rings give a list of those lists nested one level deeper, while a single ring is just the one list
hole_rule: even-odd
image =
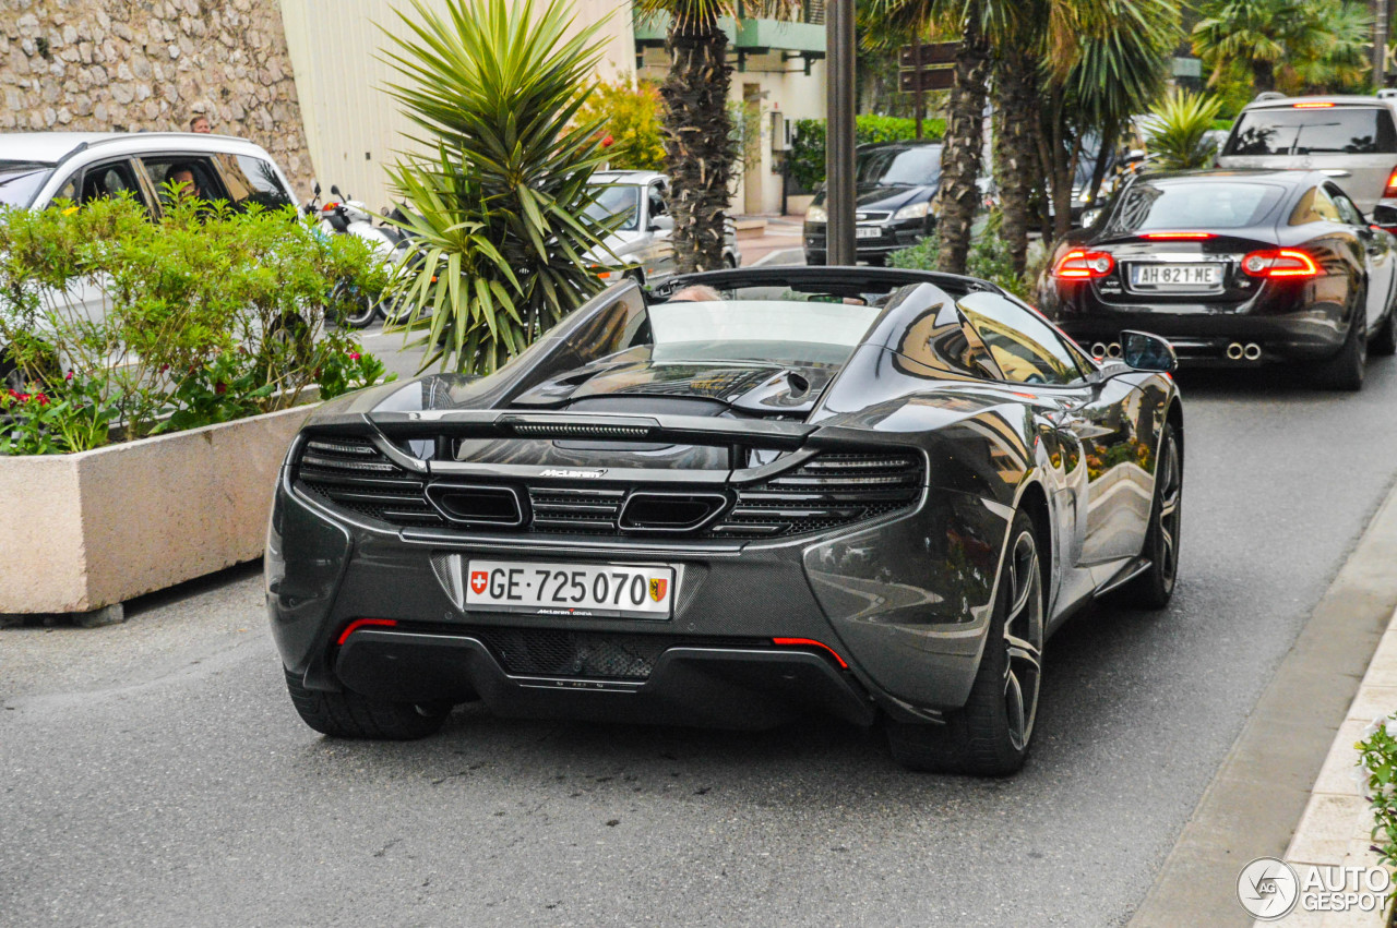
[{"label": "whole curb at lower right, grey strip plus pale stone edging", "polygon": [[[1282,857],[1288,847],[1313,854],[1303,836],[1320,835],[1312,829],[1324,828],[1327,819],[1320,812],[1313,819],[1306,818],[1312,802],[1316,808],[1333,805],[1336,814],[1345,816],[1354,811],[1336,825],[1334,843],[1323,846],[1326,854],[1340,847],[1341,836],[1341,858],[1355,833],[1366,848],[1366,825],[1355,830],[1359,829],[1356,809],[1366,814],[1366,802],[1352,784],[1343,787],[1348,795],[1338,804],[1323,801],[1324,794],[1316,790],[1327,788],[1331,781],[1326,766],[1336,749],[1343,752],[1347,745],[1347,763],[1352,766],[1355,738],[1344,726],[1354,708],[1368,713],[1362,716],[1363,724],[1377,714],[1368,712],[1369,703],[1355,699],[1359,682],[1369,681],[1365,674],[1372,671],[1375,685],[1397,688],[1397,654],[1389,648],[1380,659],[1375,657],[1380,641],[1397,636],[1389,628],[1397,608],[1393,564],[1397,564],[1397,486],[1389,488],[1261,691],[1241,734],[1155,872],[1130,918],[1132,928],[1252,925],[1236,896],[1242,867],[1257,857]],[[1369,696],[1380,698],[1382,694],[1369,692]],[[1397,709],[1397,702],[1390,708]],[[1347,781],[1347,768],[1343,777]],[[1285,924],[1322,924],[1312,920],[1316,915],[1295,913]],[[1354,915],[1348,913],[1348,921],[1323,924],[1382,924],[1355,922]]]}]

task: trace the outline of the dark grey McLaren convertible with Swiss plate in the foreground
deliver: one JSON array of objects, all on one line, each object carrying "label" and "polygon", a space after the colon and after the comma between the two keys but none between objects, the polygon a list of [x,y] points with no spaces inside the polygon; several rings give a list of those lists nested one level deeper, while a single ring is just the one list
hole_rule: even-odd
[{"label": "dark grey McLaren convertible with Swiss plate in the foreground", "polygon": [[497,373],[328,402],[281,470],[267,601],[302,719],[882,721],[912,769],[1027,755],[1049,634],[1175,583],[1173,353],[1094,360],[972,278],[606,289]]}]

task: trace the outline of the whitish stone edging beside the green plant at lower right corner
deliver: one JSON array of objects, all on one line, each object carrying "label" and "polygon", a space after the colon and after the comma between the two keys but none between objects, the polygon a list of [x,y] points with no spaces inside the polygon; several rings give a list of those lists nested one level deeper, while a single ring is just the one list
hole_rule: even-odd
[{"label": "whitish stone edging beside the green plant at lower right corner", "polygon": [[[1348,716],[1338,727],[1334,742],[1324,758],[1319,777],[1310,788],[1310,800],[1295,828],[1295,836],[1285,848],[1289,864],[1312,867],[1382,867],[1370,848],[1373,814],[1358,786],[1352,770],[1358,761],[1354,742],[1363,737],[1363,727],[1375,717],[1397,710],[1397,613],[1377,642],[1368,673],[1358,685],[1358,694],[1348,706]],[[1270,924],[1333,928],[1338,925],[1382,928],[1387,924],[1384,910],[1377,911],[1302,911],[1275,921],[1256,921],[1257,928]]]}]

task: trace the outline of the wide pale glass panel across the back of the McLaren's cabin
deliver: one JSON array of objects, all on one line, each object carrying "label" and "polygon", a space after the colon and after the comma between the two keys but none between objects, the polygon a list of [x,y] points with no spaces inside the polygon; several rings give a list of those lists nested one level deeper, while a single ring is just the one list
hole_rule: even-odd
[{"label": "wide pale glass panel across the back of the McLaren's cabin", "polygon": [[659,303],[648,311],[657,361],[795,366],[842,364],[880,313],[852,303],[764,300]]}]

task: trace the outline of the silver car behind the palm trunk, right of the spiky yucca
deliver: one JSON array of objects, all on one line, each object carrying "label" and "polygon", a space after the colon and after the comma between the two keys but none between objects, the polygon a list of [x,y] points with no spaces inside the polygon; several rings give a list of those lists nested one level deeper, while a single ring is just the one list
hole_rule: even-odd
[{"label": "silver car behind the palm trunk, right of the spiky yucca", "polygon": [[[631,278],[645,286],[664,283],[675,274],[675,246],[671,234],[675,220],[669,215],[669,179],[652,170],[608,170],[592,174],[597,218],[622,216],[620,226],[606,237],[605,250],[588,255],[598,265],[604,280]],[[630,265],[613,268],[616,264]],[[728,219],[722,262],[742,264],[736,225]]]}]

